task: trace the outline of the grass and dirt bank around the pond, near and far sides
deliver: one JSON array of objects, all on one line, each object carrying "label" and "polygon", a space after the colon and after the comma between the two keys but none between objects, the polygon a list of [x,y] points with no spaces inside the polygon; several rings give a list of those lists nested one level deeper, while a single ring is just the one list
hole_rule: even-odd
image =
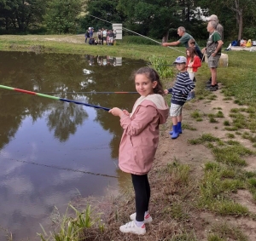
[{"label": "grass and dirt bank around the pond, near and far sides", "polygon": [[[84,44],[83,36],[0,36],[0,49],[114,55],[147,61],[154,55],[168,63],[182,55],[154,45],[90,46]],[[178,49],[184,51],[183,47]],[[160,151],[149,173],[150,212],[154,221],[147,226],[145,236],[119,232],[119,226],[134,211],[134,192],[131,181],[127,181],[127,188],[117,197],[104,197],[100,202],[80,199],[73,204],[76,209],[71,207],[74,215],[59,215],[56,232],[51,235],[44,231],[41,239],[255,240],[247,225],[256,220],[256,211],[249,206],[256,203],[256,172],[250,168],[253,162],[248,161],[256,158],[256,54],[248,51],[227,54],[229,66],[218,68],[218,81],[224,84],[218,92],[205,90],[205,81],[210,77],[206,64],[197,73],[196,99],[184,106],[189,115],[183,122],[183,136],[189,133],[187,142],[181,142],[183,136],[170,141],[166,135],[171,129],[170,122],[161,127]],[[166,87],[171,84],[172,78],[164,79]],[[169,101],[170,96],[167,98]],[[202,133],[201,123],[208,123],[207,132]],[[178,152],[173,146],[183,149]],[[168,152],[172,147],[174,151]],[[199,154],[197,149],[201,150]],[[181,155],[187,151],[198,159],[194,165]],[[241,192],[246,192],[249,198],[237,198]],[[82,204],[86,206],[84,209]]]}]

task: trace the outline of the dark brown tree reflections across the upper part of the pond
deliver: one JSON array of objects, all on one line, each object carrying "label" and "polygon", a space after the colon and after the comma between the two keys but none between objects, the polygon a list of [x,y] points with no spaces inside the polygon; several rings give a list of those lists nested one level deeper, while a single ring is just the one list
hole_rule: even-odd
[{"label": "dark brown tree reflections across the upper part of the pond", "polygon": [[[106,58],[111,63],[112,57],[93,55],[55,55],[19,52],[0,52],[1,83],[11,87],[38,92],[88,92],[88,91],[134,91],[129,77],[131,72],[143,66],[139,60],[123,60],[123,66],[98,66],[97,58]],[[91,66],[90,63],[94,63]],[[88,72],[83,72],[86,69]],[[0,90],[6,94],[9,90]],[[15,92],[13,92],[15,93]],[[49,94],[51,95],[51,94]],[[21,97],[22,96],[22,97]],[[80,99],[81,94],[57,95],[66,99]],[[131,107],[137,99],[137,95],[83,95],[86,102],[93,105],[106,107],[119,106],[120,108]],[[83,123],[87,114],[81,112],[82,106],[74,104],[63,105],[63,102],[45,99],[32,95],[2,95],[0,94],[1,123],[0,127],[1,146],[9,142],[9,138],[15,135],[22,119],[28,115],[35,122],[42,118],[44,112],[49,113],[48,126],[54,129],[55,136],[61,141],[67,141],[69,135],[73,135],[77,125]],[[19,103],[17,105],[17,103]],[[54,107],[53,107],[54,106]],[[59,106],[57,108],[56,106]],[[61,106],[61,107],[60,107]],[[131,110],[129,110],[131,111]],[[97,111],[95,121],[100,123],[103,129],[113,134],[110,143],[113,158],[118,156],[119,140],[122,129],[119,118],[115,118],[103,110]],[[3,134],[3,135],[2,135]]]}]

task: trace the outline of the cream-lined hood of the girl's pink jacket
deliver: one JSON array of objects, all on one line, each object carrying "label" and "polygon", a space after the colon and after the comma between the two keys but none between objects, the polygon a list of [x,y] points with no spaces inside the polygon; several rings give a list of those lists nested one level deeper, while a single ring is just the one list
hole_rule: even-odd
[{"label": "cream-lined hood of the girl's pink jacket", "polygon": [[141,96],[139,99],[137,99],[135,105],[133,106],[130,117],[132,117],[134,112],[136,112],[137,106],[154,106],[159,113],[160,123],[166,123],[169,116],[169,106],[162,95],[153,94]]}]

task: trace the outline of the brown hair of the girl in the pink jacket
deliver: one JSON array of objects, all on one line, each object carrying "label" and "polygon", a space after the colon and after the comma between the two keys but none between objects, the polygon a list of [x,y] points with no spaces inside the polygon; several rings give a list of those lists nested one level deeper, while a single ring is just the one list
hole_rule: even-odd
[{"label": "brown hair of the girl in the pink jacket", "polygon": [[160,77],[158,72],[156,72],[153,68],[150,67],[142,67],[137,71],[133,72],[131,78],[134,80],[137,74],[144,74],[148,77],[148,79],[153,83],[154,81],[157,82],[154,88],[154,94],[164,95],[164,89],[162,83],[160,82]]}]

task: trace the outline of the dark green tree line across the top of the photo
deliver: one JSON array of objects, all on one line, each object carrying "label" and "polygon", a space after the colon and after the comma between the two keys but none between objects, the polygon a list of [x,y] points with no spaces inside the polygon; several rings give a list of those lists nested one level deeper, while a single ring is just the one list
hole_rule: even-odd
[{"label": "dark green tree line across the top of the photo", "polygon": [[[225,39],[256,38],[254,0],[0,0],[1,34],[83,33],[89,26],[122,23],[148,37],[177,37],[184,26],[197,39],[207,37],[201,15],[218,15]],[[90,14],[90,15],[89,15]],[[93,16],[101,18],[102,21]]]}]

